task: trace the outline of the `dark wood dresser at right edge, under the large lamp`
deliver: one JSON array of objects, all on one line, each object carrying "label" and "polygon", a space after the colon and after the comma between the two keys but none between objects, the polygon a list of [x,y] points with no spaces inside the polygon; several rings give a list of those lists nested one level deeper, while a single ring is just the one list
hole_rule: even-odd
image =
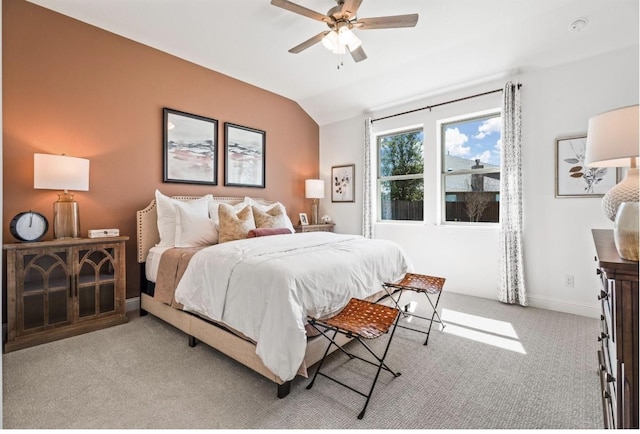
[{"label": "dark wood dresser at right edge, under the large lamp", "polygon": [[613,231],[592,230],[600,277],[598,362],[605,428],[638,428],[638,263],[618,256]]}]

